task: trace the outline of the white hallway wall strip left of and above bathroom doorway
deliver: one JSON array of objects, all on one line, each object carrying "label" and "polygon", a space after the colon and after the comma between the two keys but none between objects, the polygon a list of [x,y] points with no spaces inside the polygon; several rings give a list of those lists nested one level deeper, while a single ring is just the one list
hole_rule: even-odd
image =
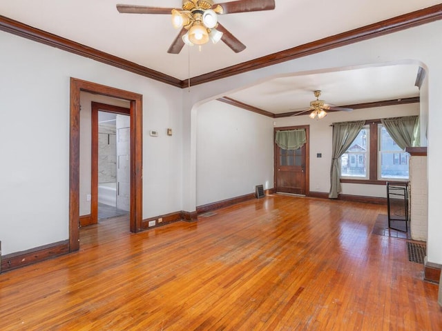
[{"label": "white hallway wall strip left of and above bathroom doorway", "polygon": [[87,201],[86,196],[90,194],[90,157],[91,157],[91,114],[92,108],[90,103],[92,101],[99,103],[106,103],[112,106],[119,106],[124,108],[131,108],[131,103],[126,100],[106,97],[99,94],[91,94],[87,92],[80,92],[80,216],[90,214],[90,201]]}]

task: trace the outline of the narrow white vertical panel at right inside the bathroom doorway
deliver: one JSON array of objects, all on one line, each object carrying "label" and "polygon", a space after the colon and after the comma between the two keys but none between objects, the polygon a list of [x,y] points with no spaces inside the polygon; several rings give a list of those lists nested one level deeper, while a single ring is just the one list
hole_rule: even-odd
[{"label": "narrow white vertical panel at right inside the bathroom doorway", "polygon": [[117,208],[131,210],[131,117],[117,115]]}]

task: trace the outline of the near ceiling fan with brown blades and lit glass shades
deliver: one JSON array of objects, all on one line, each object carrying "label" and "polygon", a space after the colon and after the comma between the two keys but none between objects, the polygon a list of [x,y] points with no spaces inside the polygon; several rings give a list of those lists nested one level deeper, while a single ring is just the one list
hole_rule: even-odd
[{"label": "near ceiling fan with brown blades and lit glass shades", "polygon": [[119,12],[127,14],[172,14],[173,26],[181,28],[181,31],[167,50],[171,54],[180,53],[184,44],[202,45],[209,40],[213,43],[222,40],[234,52],[241,52],[246,46],[218,23],[218,15],[274,8],[274,0],[238,0],[224,3],[213,3],[212,0],[183,0],[180,9],[117,5]]}]

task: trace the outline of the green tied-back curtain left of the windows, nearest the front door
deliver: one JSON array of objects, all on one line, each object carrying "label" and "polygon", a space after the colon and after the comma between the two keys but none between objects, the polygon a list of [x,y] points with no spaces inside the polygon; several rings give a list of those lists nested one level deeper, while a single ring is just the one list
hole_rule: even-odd
[{"label": "green tied-back curtain left of the windows, nearest the front door", "polygon": [[336,199],[340,188],[340,157],[344,154],[359,131],[365,125],[365,121],[333,123],[332,141],[332,167],[330,169],[330,192],[329,198]]}]

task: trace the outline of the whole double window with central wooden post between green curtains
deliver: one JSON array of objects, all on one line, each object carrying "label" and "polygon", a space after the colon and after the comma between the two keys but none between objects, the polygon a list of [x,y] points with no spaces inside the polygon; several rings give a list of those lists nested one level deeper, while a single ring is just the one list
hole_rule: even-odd
[{"label": "whole double window with central wooden post between green curtains", "polygon": [[344,183],[383,183],[408,179],[410,154],[401,150],[379,121],[364,126],[340,157]]}]

